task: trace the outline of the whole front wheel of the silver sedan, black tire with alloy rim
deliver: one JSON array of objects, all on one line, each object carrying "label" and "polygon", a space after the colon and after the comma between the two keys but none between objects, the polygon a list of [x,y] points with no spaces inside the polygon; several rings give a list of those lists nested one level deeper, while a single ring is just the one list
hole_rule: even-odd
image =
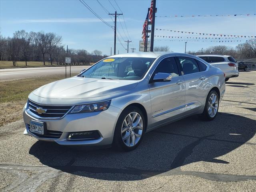
[{"label": "whole front wheel of the silver sedan, black tire with alloy rim", "polygon": [[144,115],[138,107],[129,106],[124,109],[116,123],[114,148],[121,151],[131,151],[137,148],[143,138],[145,126]]}]

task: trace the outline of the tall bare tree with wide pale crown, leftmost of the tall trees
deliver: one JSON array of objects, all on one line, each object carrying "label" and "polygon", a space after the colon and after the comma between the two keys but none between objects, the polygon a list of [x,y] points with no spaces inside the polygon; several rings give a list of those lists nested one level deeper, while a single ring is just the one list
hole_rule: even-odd
[{"label": "tall bare tree with wide pale crown, leftmost of the tall trees", "polygon": [[14,33],[14,38],[17,38],[20,40],[20,43],[21,43],[20,50],[22,52],[22,55],[24,56],[26,66],[27,66],[31,37],[25,30],[20,30]]}]

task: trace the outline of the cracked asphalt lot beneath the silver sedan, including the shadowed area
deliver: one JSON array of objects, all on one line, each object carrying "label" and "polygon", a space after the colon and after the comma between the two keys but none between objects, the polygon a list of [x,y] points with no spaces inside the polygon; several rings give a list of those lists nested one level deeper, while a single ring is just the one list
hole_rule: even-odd
[{"label": "cracked asphalt lot beneath the silver sedan, including the shadowed area", "polygon": [[163,126],[132,152],[62,147],[24,129],[0,127],[0,191],[256,191],[256,71],[230,78],[213,121]]}]

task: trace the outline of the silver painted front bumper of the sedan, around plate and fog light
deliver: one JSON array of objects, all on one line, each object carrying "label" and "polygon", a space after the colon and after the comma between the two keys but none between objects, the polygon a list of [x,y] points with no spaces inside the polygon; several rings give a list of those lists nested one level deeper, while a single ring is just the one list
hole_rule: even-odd
[{"label": "silver painted front bumper of the sedan, around plate and fog light", "polygon": [[[80,114],[67,114],[61,119],[39,119],[35,118],[30,111],[24,107],[23,119],[26,126],[24,134],[38,140],[56,142],[66,146],[107,146],[112,144],[116,122],[121,110],[111,106],[102,112],[88,112]],[[30,132],[30,120],[46,124],[47,132],[60,132],[59,138],[34,134]],[[97,131],[99,137],[95,139],[69,140],[71,133]]]}]

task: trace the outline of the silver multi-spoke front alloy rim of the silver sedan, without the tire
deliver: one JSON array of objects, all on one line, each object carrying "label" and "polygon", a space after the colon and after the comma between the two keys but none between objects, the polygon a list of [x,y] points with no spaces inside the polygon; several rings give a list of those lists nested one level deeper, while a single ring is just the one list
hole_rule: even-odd
[{"label": "silver multi-spoke front alloy rim of the silver sedan, without the tire", "polygon": [[137,112],[130,112],[122,124],[122,141],[128,147],[135,146],[143,132],[143,120]]}]

